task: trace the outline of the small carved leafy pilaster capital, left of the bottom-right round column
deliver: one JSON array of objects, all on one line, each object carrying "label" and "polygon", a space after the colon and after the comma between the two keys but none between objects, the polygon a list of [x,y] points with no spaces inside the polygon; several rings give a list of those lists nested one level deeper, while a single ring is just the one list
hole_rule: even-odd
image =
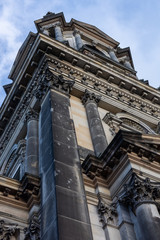
[{"label": "small carved leafy pilaster capital, left of the bottom-right round column", "polygon": [[116,203],[107,204],[104,200],[99,198],[97,208],[103,227],[105,227],[108,223],[113,225],[117,224],[118,213]]}]

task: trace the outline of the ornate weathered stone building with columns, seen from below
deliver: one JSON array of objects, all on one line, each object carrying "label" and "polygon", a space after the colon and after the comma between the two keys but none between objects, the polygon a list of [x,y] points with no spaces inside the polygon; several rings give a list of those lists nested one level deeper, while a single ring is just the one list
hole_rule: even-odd
[{"label": "ornate weathered stone building with columns, seen from below", "polygon": [[160,92],[98,28],[35,25],[0,109],[0,239],[159,240]]}]

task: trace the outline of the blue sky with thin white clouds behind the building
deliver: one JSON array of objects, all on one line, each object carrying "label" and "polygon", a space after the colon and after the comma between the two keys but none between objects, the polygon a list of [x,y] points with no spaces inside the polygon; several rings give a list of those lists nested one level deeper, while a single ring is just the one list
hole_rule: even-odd
[{"label": "blue sky with thin white clouds behind the building", "polygon": [[160,86],[159,0],[0,0],[0,105],[18,49],[48,11],[95,25],[130,47],[137,77]]}]

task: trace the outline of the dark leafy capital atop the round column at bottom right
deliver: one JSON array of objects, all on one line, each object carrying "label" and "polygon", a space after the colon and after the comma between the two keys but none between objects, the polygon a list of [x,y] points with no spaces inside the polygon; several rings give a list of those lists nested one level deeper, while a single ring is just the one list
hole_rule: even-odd
[{"label": "dark leafy capital atop the round column at bottom right", "polygon": [[142,203],[154,203],[160,198],[160,183],[151,183],[149,178],[141,179],[135,173],[131,180],[124,185],[124,193],[119,201],[132,207],[132,210]]}]

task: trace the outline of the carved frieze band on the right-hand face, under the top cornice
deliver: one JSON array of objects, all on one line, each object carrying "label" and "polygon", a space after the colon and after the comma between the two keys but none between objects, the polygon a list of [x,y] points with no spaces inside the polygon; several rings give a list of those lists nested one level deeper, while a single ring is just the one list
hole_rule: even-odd
[{"label": "carved frieze band on the right-hand face, under the top cornice", "polygon": [[[58,65],[58,69],[61,69],[61,72],[68,74],[68,76],[70,75],[70,71],[72,71],[72,74],[74,75],[77,82],[80,81],[84,85],[90,85],[95,90],[100,91],[101,93],[106,94],[113,99],[121,101],[124,104],[127,104],[128,106],[136,108],[137,110],[140,110],[149,115],[152,115],[153,117],[160,118],[160,109],[158,107],[155,107],[155,105],[152,104],[153,101],[151,102],[151,101],[145,100],[144,92],[142,93],[143,96],[140,96],[143,99],[136,96],[136,94],[133,97],[132,94],[133,94],[133,91],[137,89],[136,87],[132,87],[130,92],[128,92],[128,90],[125,91],[121,87],[121,85],[122,86],[124,85],[123,81],[121,81],[119,84],[121,89],[116,87],[115,84],[112,85],[112,81],[114,81],[114,77],[111,75],[108,77],[108,79],[101,80],[91,76],[90,74],[84,73],[79,69],[77,70],[76,68],[68,66],[67,64],[60,63],[57,59],[56,60],[52,59],[51,64],[55,67],[55,68],[53,67],[54,70],[56,70]],[[158,98],[156,101],[158,101]]]}]

